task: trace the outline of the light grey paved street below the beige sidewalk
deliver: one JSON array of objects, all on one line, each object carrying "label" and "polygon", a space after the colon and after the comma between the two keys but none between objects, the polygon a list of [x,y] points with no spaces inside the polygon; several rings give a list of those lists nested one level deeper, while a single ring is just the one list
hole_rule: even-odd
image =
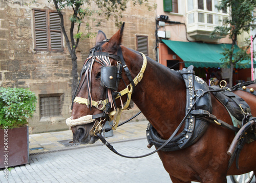
[{"label": "light grey paved street below the beige sidewalk", "polygon": [[[146,148],[146,139],[112,145],[125,155],[152,151]],[[171,182],[157,154],[126,159],[101,145],[31,155],[30,164],[11,169],[8,179],[0,171],[0,179],[1,182]]]}]

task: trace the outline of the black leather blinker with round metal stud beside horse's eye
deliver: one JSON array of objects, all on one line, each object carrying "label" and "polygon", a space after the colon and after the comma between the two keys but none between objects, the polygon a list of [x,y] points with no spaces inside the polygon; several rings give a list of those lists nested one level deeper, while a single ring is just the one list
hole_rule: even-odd
[{"label": "black leather blinker with round metal stud beside horse's eye", "polygon": [[117,67],[102,66],[101,67],[101,86],[112,90],[117,90]]}]

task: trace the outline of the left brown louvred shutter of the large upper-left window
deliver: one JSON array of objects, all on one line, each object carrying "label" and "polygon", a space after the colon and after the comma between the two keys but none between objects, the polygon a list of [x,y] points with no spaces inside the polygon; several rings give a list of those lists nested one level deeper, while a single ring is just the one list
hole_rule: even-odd
[{"label": "left brown louvred shutter of the large upper-left window", "polygon": [[45,11],[34,11],[35,15],[35,48],[47,49],[47,16]]}]

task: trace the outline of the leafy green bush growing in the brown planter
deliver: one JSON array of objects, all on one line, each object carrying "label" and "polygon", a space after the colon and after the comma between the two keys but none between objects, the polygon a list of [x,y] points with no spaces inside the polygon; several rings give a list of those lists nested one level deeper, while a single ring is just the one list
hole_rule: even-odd
[{"label": "leafy green bush growing in the brown planter", "polygon": [[0,88],[0,128],[20,127],[35,111],[36,96],[24,88]]}]

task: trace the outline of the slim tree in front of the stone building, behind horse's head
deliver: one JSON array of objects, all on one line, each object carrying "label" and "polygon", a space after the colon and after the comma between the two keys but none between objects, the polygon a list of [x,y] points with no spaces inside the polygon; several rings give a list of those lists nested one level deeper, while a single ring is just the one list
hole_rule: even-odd
[{"label": "slim tree in front of the stone building, behind horse's head", "polygon": [[[77,73],[77,57],[76,57],[76,48],[78,46],[79,40],[84,38],[92,38],[95,33],[91,32],[90,20],[96,20],[94,17],[105,17],[107,20],[110,17],[114,17],[115,25],[119,27],[121,21],[119,17],[122,17],[122,12],[127,8],[127,2],[129,0],[49,0],[53,1],[56,10],[60,16],[60,25],[63,36],[65,37],[67,47],[72,60],[72,97],[75,94],[75,90],[78,85],[78,73]],[[147,3],[147,0],[130,0],[133,2],[133,5],[141,5],[145,3],[148,10],[152,7]],[[91,8],[91,4],[96,5],[98,8]],[[70,36],[67,35],[66,28],[64,26],[62,10],[65,8],[71,8],[73,10],[73,15],[70,18],[71,27],[70,27]],[[100,25],[101,19],[97,19],[97,25]],[[81,23],[86,24],[86,31],[81,31]],[[76,33],[75,33],[76,31]]]}]

